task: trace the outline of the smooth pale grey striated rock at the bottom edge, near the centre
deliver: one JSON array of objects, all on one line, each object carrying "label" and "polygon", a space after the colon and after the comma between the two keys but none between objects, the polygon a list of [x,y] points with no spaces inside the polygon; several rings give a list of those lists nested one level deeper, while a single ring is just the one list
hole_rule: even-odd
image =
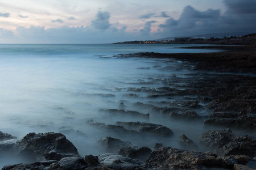
[{"label": "smooth pale grey striated rock at the bottom edge, near the centre", "polygon": [[98,160],[101,166],[106,165],[108,168],[112,168],[112,169],[134,170],[136,168],[139,168],[141,165],[143,165],[143,162],[139,160],[126,158],[121,155],[109,154],[109,153],[98,156]]}]

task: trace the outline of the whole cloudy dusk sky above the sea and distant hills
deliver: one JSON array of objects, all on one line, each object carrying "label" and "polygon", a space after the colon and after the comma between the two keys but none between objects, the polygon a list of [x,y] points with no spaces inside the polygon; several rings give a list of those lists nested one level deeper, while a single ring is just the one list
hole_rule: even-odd
[{"label": "whole cloudy dusk sky above the sea and distant hills", "polygon": [[0,0],[0,43],[112,43],[256,32],[256,0]]}]

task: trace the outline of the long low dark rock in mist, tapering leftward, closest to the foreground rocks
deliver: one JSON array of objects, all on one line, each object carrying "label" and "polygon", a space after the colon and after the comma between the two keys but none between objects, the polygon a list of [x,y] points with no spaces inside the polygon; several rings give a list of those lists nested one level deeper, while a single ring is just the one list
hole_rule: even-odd
[{"label": "long low dark rock in mist, tapering leftward, closest to the foreground rocks", "polygon": [[133,129],[142,132],[149,132],[163,137],[170,137],[174,133],[171,129],[163,125],[151,124],[146,122],[117,122],[117,125],[122,125],[127,129]]}]

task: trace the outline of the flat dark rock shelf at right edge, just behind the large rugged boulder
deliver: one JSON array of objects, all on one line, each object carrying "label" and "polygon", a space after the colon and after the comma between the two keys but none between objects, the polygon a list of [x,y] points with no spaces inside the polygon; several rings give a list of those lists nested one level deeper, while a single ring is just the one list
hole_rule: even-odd
[{"label": "flat dark rock shelf at right edge, just behind the large rugged boulder", "polygon": [[243,115],[241,118],[209,118],[204,121],[205,125],[217,125],[226,128],[236,128],[243,130],[256,130],[256,117]]}]

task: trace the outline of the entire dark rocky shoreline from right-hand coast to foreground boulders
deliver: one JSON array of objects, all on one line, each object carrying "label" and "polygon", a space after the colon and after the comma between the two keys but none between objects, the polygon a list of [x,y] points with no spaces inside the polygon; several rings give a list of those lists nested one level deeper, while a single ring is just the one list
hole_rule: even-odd
[{"label": "entire dark rocky shoreline from right-hand coast to foreground boulders", "polygon": [[[224,48],[229,47],[222,47]],[[240,46],[236,51],[220,53],[137,53],[114,57],[179,59],[189,69],[205,72],[191,75],[192,78],[173,76],[171,79],[158,80],[166,85],[163,87],[129,88],[127,92],[130,97],[137,97],[135,92],[142,92],[148,94],[148,99],[161,99],[158,102],[133,104],[134,108],[143,109],[147,114],[126,110],[123,102],[119,104],[119,109],[101,109],[100,112],[123,116],[129,114],[145,119],[151,114],[159,114],[180,121],[195,121],[195,124],[201,123],[216,129],[208,130],[196,137],[197,141],[192,141],[185,134],[174,134],[170,128],[159,124],[141,121],[104,124],[89,120],[86,123],[94,128],[133,137],[147,134],[153,138],[169,139],[173,135],[180,135],[182,148],[163,146],[162,143],[156,143],[154,148],[138,147],[131,141],[106,136],[97,141],[99,146],[105,148],[106,154],[86,156],[79,155],[77,148],[61,133],[29,133],[18,140],[0,131],[1,156],[18,156],[24,162],[27,162],[26,159],[34,161],[31,164],[6,165],[3,170],[256,168],[255,46]],[[242,75],[243,73],[248,75]],[[175,85],[174,88],[173,82],[186,84],[180,84],[180,87]],[[162,100],[174,96],[183,96],[183,99]],[[210,114],[197,114],[197,109],[200,108],[206,109]],[[242,131],[243,135],[234,134],[233,129]]]}]

